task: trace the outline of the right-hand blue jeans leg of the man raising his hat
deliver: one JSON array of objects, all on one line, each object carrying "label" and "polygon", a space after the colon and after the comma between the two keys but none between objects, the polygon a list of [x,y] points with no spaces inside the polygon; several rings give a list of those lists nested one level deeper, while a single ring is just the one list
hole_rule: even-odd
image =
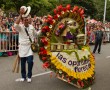
[{"label": "right-hand blue jeans leg of the man raising his hat", "polygon": [[28,74],[27,77],[32,77],[32,68],[33,68],[33,55],[27,57],[27,63],[28,63]]}]

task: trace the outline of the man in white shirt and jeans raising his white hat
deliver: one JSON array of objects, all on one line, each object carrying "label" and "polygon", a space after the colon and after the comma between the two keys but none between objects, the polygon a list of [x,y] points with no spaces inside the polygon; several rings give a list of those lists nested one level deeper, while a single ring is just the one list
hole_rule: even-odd
[{"label": "man in white shirt and jeans raising his white hat", "polygon": [[[16,20],[14,27],[19,32],[19,57],[21,59],[21,76],[22,78],[19,81],[31,82],[32,77],[32,68],[33,68],[33,52],[31,50],[31,42],[29,40],[29,36],[32,41],[34,41],[36,36],[36,31],[34,27],[29,24],[28,15],[31,11],[31,7],[22,6],[20,8],[20,15]],[[23,24],[20,24],[20,20],[22,19]],[[29,36],[27,35],[27,33]],[[28,63],[28,73],[26,75],[26,61]]]}]

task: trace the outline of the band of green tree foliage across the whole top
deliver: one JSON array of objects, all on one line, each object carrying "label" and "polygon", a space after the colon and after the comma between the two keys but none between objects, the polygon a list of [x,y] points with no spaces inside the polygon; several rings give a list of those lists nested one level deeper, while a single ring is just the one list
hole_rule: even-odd
[{"label": "band of green tree foliage across the whole top", "polygon": [[[97,20],[103,20],[104,4],[105,0],[0,0],[0,8],[5,12],[15,10],[19,12],[19,8],[23,5],[30,5],[32,7],[31,14],[43,16],[51,14],[53,9],[62,4],[66,6],[71,4],[72,6],[78,5],[85,9],[85,14],[90,15],[91,18]],[[107,0],[106,20],[110,21],[110,1]]]}]

